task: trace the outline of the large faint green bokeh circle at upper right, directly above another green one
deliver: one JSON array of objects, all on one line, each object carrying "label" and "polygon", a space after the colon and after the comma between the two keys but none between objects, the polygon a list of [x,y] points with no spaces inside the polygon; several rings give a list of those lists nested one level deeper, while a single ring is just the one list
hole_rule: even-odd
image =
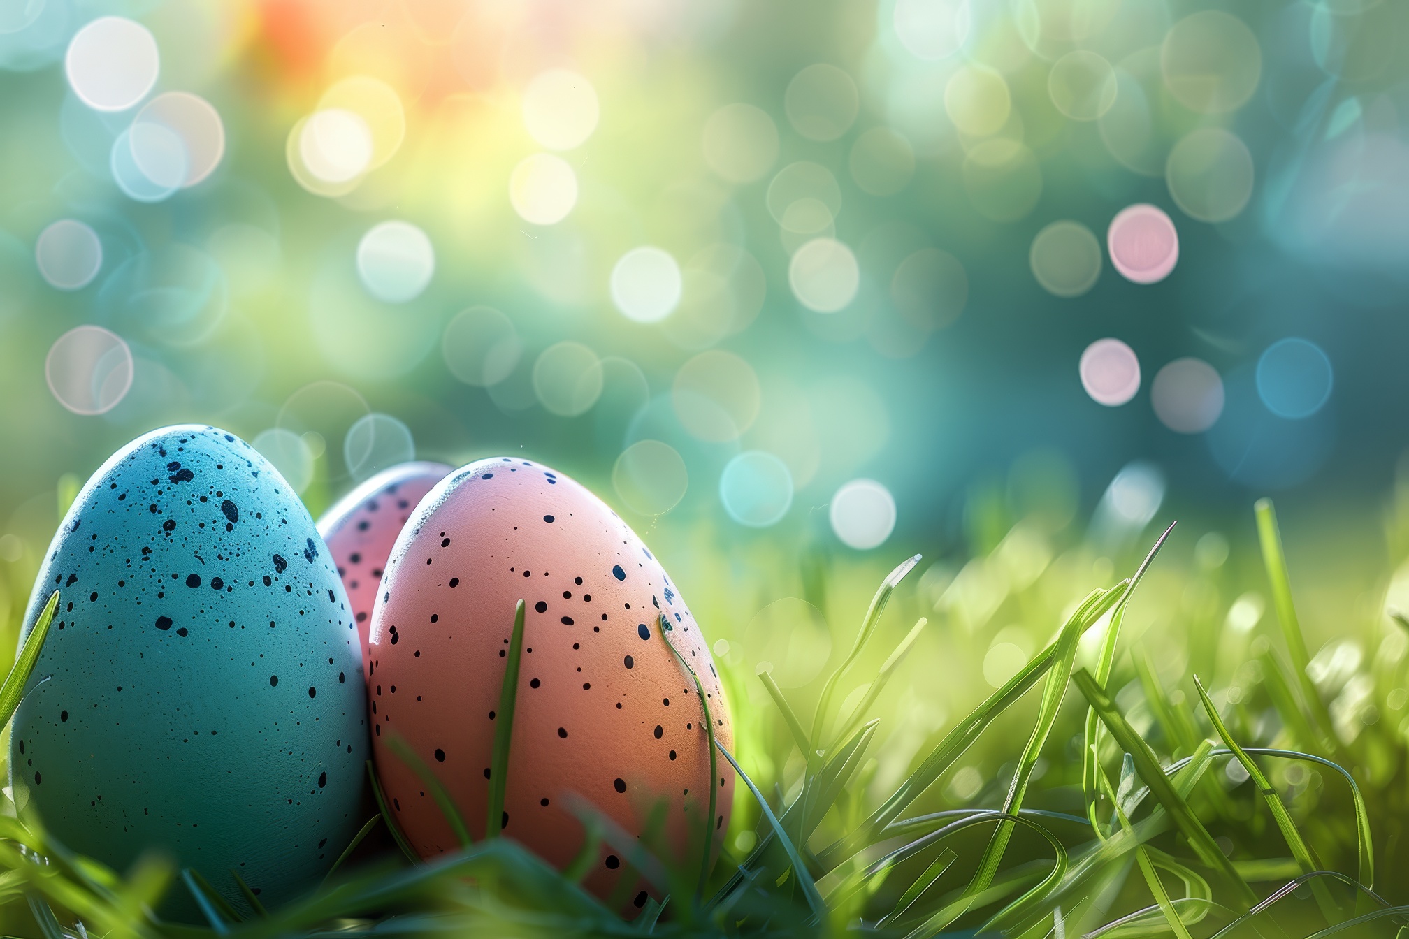
[{"label": "large faint green bokeh circle at upper right, directly above another green one", "polygon": [[1253,97],[1262,73],[1262,49],[1241,20],[1203,10],[1165,34],[1160,66],[1179,104],[1200,114],[1226,114]]}]

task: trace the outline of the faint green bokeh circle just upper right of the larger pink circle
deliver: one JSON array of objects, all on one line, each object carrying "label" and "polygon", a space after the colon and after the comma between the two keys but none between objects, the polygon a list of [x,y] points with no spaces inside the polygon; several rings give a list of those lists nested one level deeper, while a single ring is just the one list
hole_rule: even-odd
[{"label": "faint green bokeh circle just upper right of the larger pink circle", "polygon": [[1203,127],[1169,151],[1165,180],[1169,196],[1191,218],[1227,221],[1253,196],[1253,155],[1236,134]]}]

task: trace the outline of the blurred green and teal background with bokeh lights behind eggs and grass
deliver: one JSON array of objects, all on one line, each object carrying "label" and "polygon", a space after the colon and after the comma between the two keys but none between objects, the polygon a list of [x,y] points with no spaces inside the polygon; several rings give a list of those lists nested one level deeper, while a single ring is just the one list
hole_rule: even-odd
[{"label": "blurred green and teal background with bokeh lights behind eggs and grass", "polygon": [[[1255,684],[1272,493],[1337,732],[1399,753],[1406,18],[6,0],[0,619],[163,424],[254,441],[314,515],[403,459],[523,453],[665,560],[761,783],[800,757],[754,670],[806,702],[924,553],[881,793],[1174,518],[1127,635],[1169,687]],[[937,798],[999,786],[996,743]]]}]

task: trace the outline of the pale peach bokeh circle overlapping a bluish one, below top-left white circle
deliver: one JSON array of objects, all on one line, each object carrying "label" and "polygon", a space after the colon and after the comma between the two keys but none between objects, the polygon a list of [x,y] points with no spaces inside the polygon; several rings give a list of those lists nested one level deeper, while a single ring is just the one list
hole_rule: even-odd
[{"label": "pale peach bokeh circle overlapping a bluish one, below top-left white circle", "polygon": [[225,125],[206,99],[166,92],[132,118],[132,160],[158,186],[187,187],[201,182],[225,155]]}]

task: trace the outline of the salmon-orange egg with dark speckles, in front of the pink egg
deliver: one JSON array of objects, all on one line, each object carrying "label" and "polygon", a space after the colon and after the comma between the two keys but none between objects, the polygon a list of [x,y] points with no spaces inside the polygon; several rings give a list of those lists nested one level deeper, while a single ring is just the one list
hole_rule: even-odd
[{"label": "salmon-orange egg with dark speckles, in front of the pink egg", "polygon": [[[431,857],[457,847],[426,784],[387,748],[400,735],[480,838],[495,719],[514,607],[526,601],[523,660],[509,752],[503,833],[564,867],[583,842],[575,793],[631,835],[657,801],[664,842],[692,863],[728,826],[734,774],[710,777],[704,687],[714,733],[733,725],[709,646],[665,569],[602,500],[561,473],[495,458],[445,477],[392,550],[368,642],[372,750],[392,815]],[[695,852],[695,853],[692,853]],[[697,863],[697,860],[695,862]],[[626,869],[603,846],[586,886],[606,897]],[[645,904],[644,884],[628,900]]]}]

